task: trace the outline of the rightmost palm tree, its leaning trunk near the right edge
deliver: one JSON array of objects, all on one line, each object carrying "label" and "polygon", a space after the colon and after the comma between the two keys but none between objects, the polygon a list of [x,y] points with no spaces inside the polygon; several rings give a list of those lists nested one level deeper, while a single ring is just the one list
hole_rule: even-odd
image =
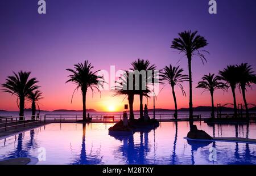
[{"label": "rightmost palm tree, its leaning trunk near the right edge", "polygon": [[256,75],[254,74],[254,71],[252,71],[253,68],[251,68],[248,63],[241,63],[241,65],[237,65],[237,67],[239,70],[239,86],[242,91],[243,101],[245,102],[246,118],[249,118],[249,110],[246,101],[245,91],[246,87],[251,88],[251,83],[255,83]]}]

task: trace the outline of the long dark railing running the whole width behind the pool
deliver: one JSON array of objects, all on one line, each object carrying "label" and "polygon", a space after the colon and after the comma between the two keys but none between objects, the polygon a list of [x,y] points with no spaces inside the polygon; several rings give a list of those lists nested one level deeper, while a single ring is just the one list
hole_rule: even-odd
[{"label": "long dark railing running the whole width behind the pool", "polygon": [[[153,118],[153,114],[148,114],[150,118]],[[221,114],[221,117],[229,117],[231,114]],[[89,114],[92,122],[118,122],[122,119],[122,113],[118,114]],[[196,121],[201,121],[202,119],[210,118],[210,114],[194,114],[193,119]],[[86,115],[86,118],[88,115]],[[217,114],[216,114],[217,117]],[[250,117],[255,117],[255,114],[250,114]],[[23,118],[20,120],[20,118]],[[129,113],[128,113],[129,118]],[[138,119],[139,114],[134,114],[134,118]],[[186,121],[189,118],[188,113],[179,113],[178,121]],[[174,114],[155,114],[155,119],[160,122],[164,121],[174,121]],[[82,114],[40,114],[40,115],[28,115],[24,117],[0,117],[0,131],[7,131],[11,129],[16,129],[20,126],[32,126],[37,123],[76,123],[82,120]]]}]

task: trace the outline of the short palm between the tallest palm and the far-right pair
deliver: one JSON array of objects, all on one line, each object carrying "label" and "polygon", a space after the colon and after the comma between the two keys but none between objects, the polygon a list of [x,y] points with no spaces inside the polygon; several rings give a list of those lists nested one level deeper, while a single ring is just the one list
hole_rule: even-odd
[{"label": "short palm between the tallest palm and the far-right pair", "polygon": [[[214,74],[204,75],[203,81],[199,81],[196,88],[203,88],[205,91],[210,92],[210,96],[212,97],[212,118],[214,118],[214,101],[213,101],[213,93],[217,89],[226,90],[228,87],[226,84],[220,82],[220,76],[215,76]],[[204,92],[205,92],[204,91]]]}]

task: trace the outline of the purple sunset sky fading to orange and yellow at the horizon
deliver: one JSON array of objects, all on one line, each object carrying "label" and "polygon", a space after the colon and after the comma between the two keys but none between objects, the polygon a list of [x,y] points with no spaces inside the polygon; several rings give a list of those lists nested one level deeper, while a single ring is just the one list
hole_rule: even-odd
[{"label": "purple sunset sky fading to orange and yellow at the horizon", "polygon": [[[217,73],[229,64],[248,62],[256,68],[256,1],[218,1],[217,14],[208,13],[207,0],[176,1],[87,1],[51,0],[47,14],[39,15],[36,0],[0,2],[0,83],[11,71],[32,71],[44,93],[42,109],[81,109],[80,93],[70,104],[74,85],[65,84],[75,63],[88,59],[98,69],[130,68],[137,58],[149,59],[160,69],[181,65],[187,73],[187,59],[170,49],[177,33],[192,29],[207,38],[208,63],[193,59],[193,87],[204,74]],[[188,84],[185,83],[185,90]],[[255,87],[247,92],[248,101],[256,104]],[[208,93],[194,90],[195,105],[210,105]],[[187,91],[188,93],[188,91]],[[90,92],[89,92],[90,95]],[[111,102],[122,110],[123,97],[88,96],[88,108],[108,109]],[[166,98],[168,96],[168,98]],[[15,97],[0,92],[0,109],[16,110]],[[179,108],[188,106],[177,90]],[[225,97],[225,98],[224,98]],[[216,92],[216,102],[232,101],[231,93]],[[237,92],[238,102],[242,103]],[[146,102],[146,101],[145,101]],[[151,101],[148,102],[149,108]],[[26,108],[30,108],[27,105]],[[158,97],[156,108],[174,108],[170,87]],[[135,109],[138,103],[135,102]]]}]

